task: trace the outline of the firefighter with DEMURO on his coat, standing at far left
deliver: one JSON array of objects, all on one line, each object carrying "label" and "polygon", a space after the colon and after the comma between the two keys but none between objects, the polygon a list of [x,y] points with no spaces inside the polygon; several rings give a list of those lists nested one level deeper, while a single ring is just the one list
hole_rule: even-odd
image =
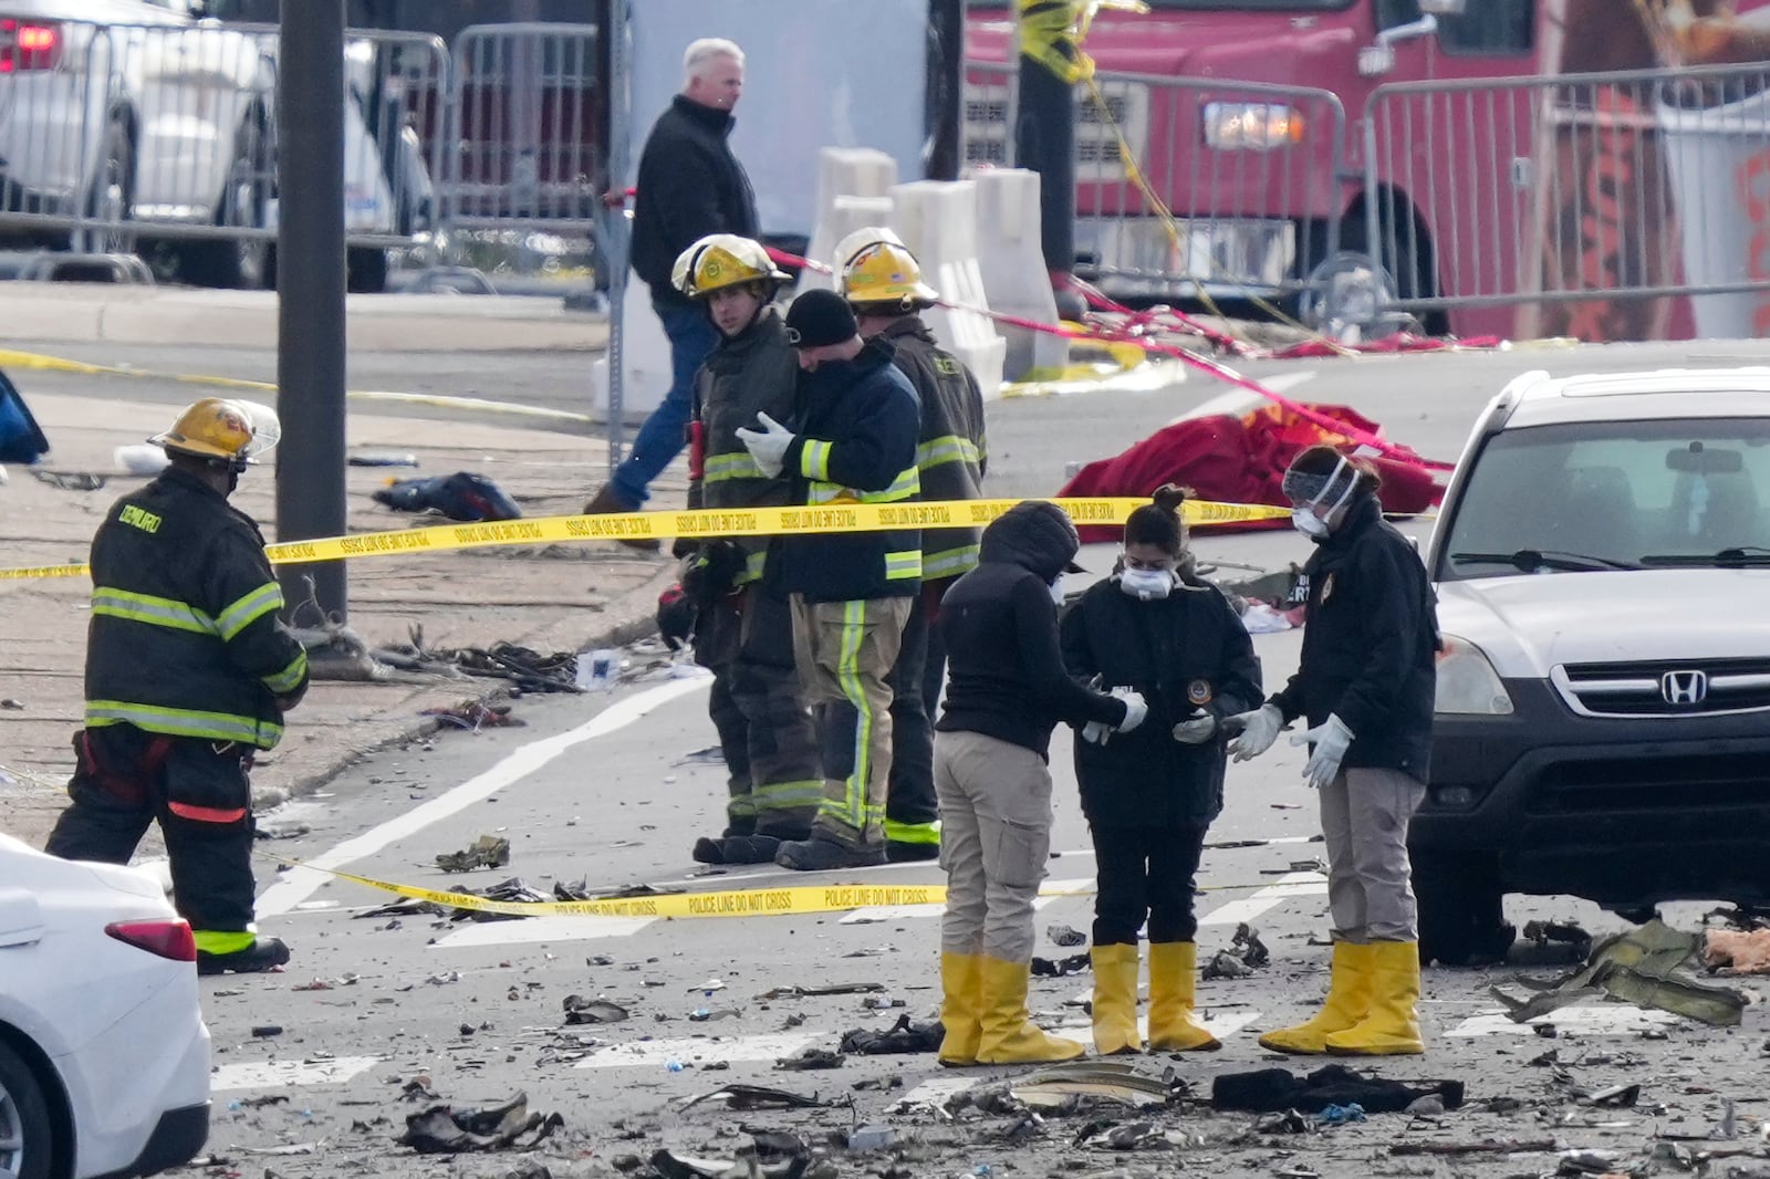
[{"label": "firefighter with DEMURO on his coat, standing at far left", "polygon": [[289,961],[253,928],[246,775],[306,692],[308,657],[276,618],[283,591],[264,536],[228,505],[278,435],[271,409],[205,397],[149,439],[170,464],[112,505],[92,538],[85,728],[46,848],[127,864],[158,820],[198,974]]}]

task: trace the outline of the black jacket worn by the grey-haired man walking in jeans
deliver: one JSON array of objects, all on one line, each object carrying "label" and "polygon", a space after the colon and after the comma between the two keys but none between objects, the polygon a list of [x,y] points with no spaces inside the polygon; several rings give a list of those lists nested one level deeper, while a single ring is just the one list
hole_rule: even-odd
[{"label": "black jacket worn by the grey-haired man walking in jeans", "polygon": [[634,196],[634,273],[658,306],[694,306],[671,285],[683,250],[708,234],[756,237],[756,193],[731,154],[733,117],[681,94],[651,124]]}]

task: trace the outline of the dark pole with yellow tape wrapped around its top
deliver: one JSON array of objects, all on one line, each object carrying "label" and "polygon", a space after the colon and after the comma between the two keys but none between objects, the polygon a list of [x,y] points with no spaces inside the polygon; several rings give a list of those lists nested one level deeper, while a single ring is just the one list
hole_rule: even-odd
[{"label": "dark pole with yellow tape wrapped around its top", "polygon": [[1066,0],[1020,0],[1014,166],[1039,173],[1039,243],[1060,294],[1076,264],[1076,87],[1064,69],[1081,53],[1074,19],[1076,5]]}]

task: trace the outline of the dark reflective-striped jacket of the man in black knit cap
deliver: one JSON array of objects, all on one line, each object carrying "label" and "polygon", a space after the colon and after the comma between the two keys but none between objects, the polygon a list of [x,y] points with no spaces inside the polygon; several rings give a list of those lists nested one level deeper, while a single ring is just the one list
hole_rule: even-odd
[{"label": "dark reflective-striped jacket of the man in black knit cap", "polygon": [[[823,361],[800,374],[800,428],[784,455],[795,503],[841,512],[855,503],[917,499],[915,389],[878,343],[851,361]],[[773,581],[779,566],[779,581]],[[827,531],[779,538],[768,575],[807,602],[908,597],[922,586],[920,529]]]}]

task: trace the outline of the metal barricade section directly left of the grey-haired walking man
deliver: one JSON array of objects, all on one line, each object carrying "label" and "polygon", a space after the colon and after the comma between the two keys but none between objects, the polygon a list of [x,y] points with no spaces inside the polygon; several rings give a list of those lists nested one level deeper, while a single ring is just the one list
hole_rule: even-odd
[{"label": "metal barricade section directly left of the grey-haired walking man", "polygon": [[595,25],[474,25],[455,39],[437,170],[453,228],[593,235],[607,188]]}]

